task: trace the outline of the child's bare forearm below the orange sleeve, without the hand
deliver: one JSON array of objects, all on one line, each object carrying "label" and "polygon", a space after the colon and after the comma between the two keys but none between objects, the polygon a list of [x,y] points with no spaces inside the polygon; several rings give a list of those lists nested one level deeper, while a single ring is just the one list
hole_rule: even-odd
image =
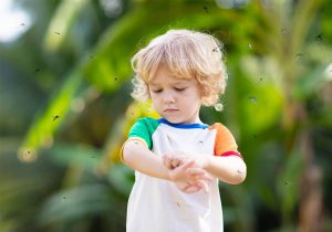
[{"label": "child's bare forearm below the orange sleeve, without the hand", "polygon": [[205,170],[231,184],[243,182],[247,176],[247,166],[238,156],[208,157]]}]

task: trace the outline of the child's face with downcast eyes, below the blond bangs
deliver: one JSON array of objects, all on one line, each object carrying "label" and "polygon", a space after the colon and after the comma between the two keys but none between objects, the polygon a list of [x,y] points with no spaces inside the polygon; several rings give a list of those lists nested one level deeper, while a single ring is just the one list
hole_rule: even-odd
[{"label": "child's face with downcast eyes, below the blond bangs", "polygon": [[148,83],[148,91],[157,113],[174,124],[199,122],[200,88],[195,78],[176,78],[163,66]]}]

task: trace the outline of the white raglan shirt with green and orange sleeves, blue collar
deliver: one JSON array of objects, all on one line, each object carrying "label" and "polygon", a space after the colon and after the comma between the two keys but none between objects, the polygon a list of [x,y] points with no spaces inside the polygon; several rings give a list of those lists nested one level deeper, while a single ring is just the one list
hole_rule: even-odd
[{"label": "white raglan shirt with green and orange sleeves, blue collar", "polygon": [[[142,141],[156,156],[170,151],[204,156],[239,156],[231,133],[219,123],[172,124],[165,118],[138,119],[128,140]],[[135,171],[127,205],[127,232],[222,232],[218,179],[209,192],[184,193],[172,182]]]}]

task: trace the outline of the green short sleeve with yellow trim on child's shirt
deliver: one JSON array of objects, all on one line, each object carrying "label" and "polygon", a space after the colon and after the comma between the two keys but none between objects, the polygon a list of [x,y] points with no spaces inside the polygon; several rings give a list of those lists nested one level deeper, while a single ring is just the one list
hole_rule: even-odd
[{"label": "green short sleeve with yellow trim on child's shirt", "polygon": [[144,117],[133,125],[131,128],[131,131],[128,134],[128,137],[139,137],[145,140],[145,143],[148,146],[148,149],[153,148],[153,140],[152,136],[155,133],[156,128],[158,127],[159,122],[157,119],[151,118],[151,117]]}]

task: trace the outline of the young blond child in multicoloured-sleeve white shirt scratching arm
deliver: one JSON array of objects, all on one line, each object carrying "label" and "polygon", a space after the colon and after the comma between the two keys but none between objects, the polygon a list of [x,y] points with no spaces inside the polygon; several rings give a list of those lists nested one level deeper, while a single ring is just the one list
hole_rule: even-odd
[{"label": "young blond child in multicoloured-sleeve white shirt scratching arm", "polygon": [[240,183],[247,168],[231,133],[199,119],[200,106],[218,104],[226,86],[218,41],[170,30],[132,64],[133,96],[151,98],[160,118],[138,119],[122,149],[135,170],[127,232],[222,232],[218,179]]}]

